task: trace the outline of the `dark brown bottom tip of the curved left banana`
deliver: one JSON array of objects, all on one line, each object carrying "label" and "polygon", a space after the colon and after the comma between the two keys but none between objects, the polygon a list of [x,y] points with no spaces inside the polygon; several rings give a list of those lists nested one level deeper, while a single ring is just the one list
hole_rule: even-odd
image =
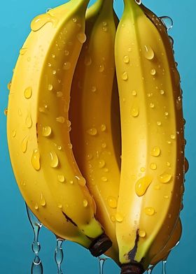
[{"label": "dark brown bottom tip of the curved left banana", "polygon": [[104,254],[112,246],[112,242],[106,234],[102,234],[92,241],[89,250],[94,257]]}]

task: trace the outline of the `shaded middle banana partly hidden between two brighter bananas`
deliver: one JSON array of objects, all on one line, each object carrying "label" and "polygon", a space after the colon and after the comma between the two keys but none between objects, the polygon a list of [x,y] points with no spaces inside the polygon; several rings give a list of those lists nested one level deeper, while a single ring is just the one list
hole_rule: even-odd
[{"label": "shaded middle banana partly hidden between two brighter bananas", "polygon": [[87,41],[71,87],[71,143],[97,204],[96,217],[113,242],[107,254],[118,261],[115,216],[120,182],[120,115],[113,0],[98,0],[87,11],[86,18]]}]

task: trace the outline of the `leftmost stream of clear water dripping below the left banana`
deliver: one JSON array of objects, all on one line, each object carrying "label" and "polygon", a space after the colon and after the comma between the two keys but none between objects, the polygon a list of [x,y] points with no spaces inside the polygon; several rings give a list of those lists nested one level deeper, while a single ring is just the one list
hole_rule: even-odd
[{"label": "leftmost stream of clear water dripping below the left banana", "polygon": [[42,265],[41,259],[38,257],[38,252],[40,252],[41,250],[41,245],[38,242],[38,235],[39,235],[39,231],[41,229],[42,224],[41,222],[38,221],[38,219],[33,214],[33,212],[31,212],[27,204],[26,204],[26,208],[27,208],[27,216],[29,218],[29,222],[34,231],[34,241],[31,245],[31,249],[34,252],[35,257],[34,257],[34,261],[31,264],[31,274],[43,274],[43,265]]}]

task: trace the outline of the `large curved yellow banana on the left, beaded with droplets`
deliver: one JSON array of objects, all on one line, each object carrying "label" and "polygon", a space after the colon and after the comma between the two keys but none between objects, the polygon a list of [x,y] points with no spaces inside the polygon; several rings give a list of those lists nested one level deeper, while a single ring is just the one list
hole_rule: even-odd
[{"label": "large curved yellow banana on the left, beaded with droplets", "polygon": [[89,0],[71,0],[31,22],[8,100],[10,160],[34,215],[59,238],[104,253],[111,241],[73,157],[68,120],[71,81],[85,36]]}]

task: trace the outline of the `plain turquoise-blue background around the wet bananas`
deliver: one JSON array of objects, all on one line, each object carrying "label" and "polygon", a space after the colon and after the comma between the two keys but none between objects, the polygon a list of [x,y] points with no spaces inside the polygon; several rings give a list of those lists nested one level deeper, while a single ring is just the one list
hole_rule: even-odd
[{"label": "plain turquoise-blue background around the wet bananas", "polygon": [[[106,0],[107,1],[107,0]],[[92,2],[92,1],[91,1]],[[12,77],[13,68],[27,34],[31,19],[47,8],[62,4],[61,0],[7,0],[1,1],[1,44],[0,44],[0,273],[27,274],[30,273],[33,253],[31,241],[33,233],[25,212],[24,201],[15,183],[10,166],[6,142],[6,116],[3,110],[7,106],[7,83]],[[194,0],[189,1],[153,1],[145,0],[144,4],[159,16],[169,15],[174,20],[174,27],[169,34],[174,38],[176,61],[179,63],[183,89],[183,107],[186,118],[186,157],[190,162],[190,170],[186,175],[186,193],[184,209],[181,213],[183,236],[180,245],[172,252],[167,263],[167,273],[196,273],[195,238],[196,238],[196,206],[195,206],[195,106],[196,106],[196,75],[195,75],[195,8]],[[115,1],[116,11],[123,11],[123,0]],[[41,252],[44,273],[57,273],[54,250],[55,237],[46,229],[41,229]],[[98,261],[90,253],[73,243],[64,243],[64,273],[90,274],[99,273]],[[155,273],[161,273],[160,266]],[[118,267],[112,261],[106,261],[104,273],[119,273]]]}]

